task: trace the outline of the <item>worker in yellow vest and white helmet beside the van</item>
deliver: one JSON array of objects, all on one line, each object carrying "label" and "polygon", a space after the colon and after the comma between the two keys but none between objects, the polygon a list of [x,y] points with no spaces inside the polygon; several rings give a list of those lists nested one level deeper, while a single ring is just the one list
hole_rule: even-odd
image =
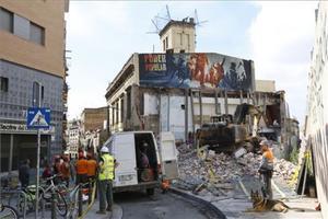
[{"label": "worker in yellow vest and white helmet beside the van", "polygon": [[[113,207],[113,180],[116,162],[113,155],[109,154],[107,147],[101,149],[101,158],[98,164],[98,192],[99,192],[99,210],[97,214],[106,215],[112,211]],[[106,207],[107,200],[107,207]]]}]

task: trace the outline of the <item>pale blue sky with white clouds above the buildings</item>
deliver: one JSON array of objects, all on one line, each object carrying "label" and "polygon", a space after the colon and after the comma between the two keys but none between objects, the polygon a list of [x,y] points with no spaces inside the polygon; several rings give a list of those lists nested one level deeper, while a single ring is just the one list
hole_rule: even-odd
[{"label": "pale blue sky with white clouds above the buildings", "polygon": [[105,92],[133,53],[161,51],[152,19],[194,16],[199,53],[219,53],[255,62],[256,79],[284,90],[291,116],[304,122],[307,74],[317,2],[70,1],[67,20],[69,119],[85,107],[106,105]]}]

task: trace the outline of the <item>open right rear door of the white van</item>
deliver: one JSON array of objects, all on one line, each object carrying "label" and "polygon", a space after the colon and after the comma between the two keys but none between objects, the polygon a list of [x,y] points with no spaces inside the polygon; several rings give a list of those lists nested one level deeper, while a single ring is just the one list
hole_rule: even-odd
[{"label": "open right rear door of the white van", "polygon": [[160,155],[162,161],[163,177],[174,180],[178,177],[177,150],[175,138],[172,132],[161,132]]}]

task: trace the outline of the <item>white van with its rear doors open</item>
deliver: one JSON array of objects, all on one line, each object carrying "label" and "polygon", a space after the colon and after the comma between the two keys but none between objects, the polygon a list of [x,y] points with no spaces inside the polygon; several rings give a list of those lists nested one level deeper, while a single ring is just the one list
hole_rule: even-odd
[{"label": "white van with its rear doors open", "polygon": [[[147,150],[143,151],[143,143]],[[145,189],[149,195],[161,180],[173,180],[178,175],[177,151],[172,132],[162,132],[157,146],[152,131],[122,131],[115,132],[104,146],[118,162],[115,169],[114,192]],[[149,169],[141,168],[141,150],[147,153]],[[147,174],[144,174],[147,173]],[[144,177],[144,175],[148,175]]]}]

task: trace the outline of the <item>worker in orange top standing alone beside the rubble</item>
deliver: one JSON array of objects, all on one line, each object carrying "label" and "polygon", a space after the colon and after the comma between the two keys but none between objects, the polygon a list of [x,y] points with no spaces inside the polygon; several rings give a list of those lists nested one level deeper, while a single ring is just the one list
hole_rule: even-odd
[{"label": "worker in orange top standing alone beside the rubble", "polygon": [[272,187],[271,187],[271,178],[273,173],[273,152],[269,148],[270,141],[262,140],[260,142],[260,149],[262,152],[262,160],[260,162],[258,172],[261,174],[261,177],[263,178],[265,183],[265,198],[272,199]]}]

